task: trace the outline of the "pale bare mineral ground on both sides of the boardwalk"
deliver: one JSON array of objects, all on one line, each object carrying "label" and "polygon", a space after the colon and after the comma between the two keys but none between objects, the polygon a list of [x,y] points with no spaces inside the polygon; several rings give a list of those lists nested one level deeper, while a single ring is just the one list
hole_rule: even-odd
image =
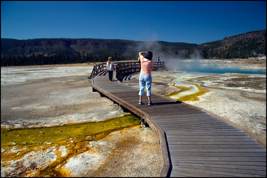
[{"label": "pale bare mineral ground on both sides of the boardwalk", "polygon": [[[1,128],[62,125],[68,122],[101,121],[125,113],[118,105],[92,92],[87,79],[92,66],[33,66],[1,68]],[[164,75],[161,75],[163,74]],[[153,72],[152,92],[166,95],[179,91],[172,87],[172,75]],[[265,75],[266,77],[266,75]],[[197,82],[197,81],[195,81]],[[123,83],[138,87],[138,74]],[[245,90],[210,86],[212,92],[190,103],[235,122],[266,140],[266,89]],[[265,84],[266,87],[266,84]],[[137,96],[138,100],[138,96]],[[153,99],[152,99],[153,100]],[[219,101],[219,102],[218,102]],[[1,148],[1,177],[36,175],[70,151],[55,145],[19,155],[27,147]],[[151,129],[134,127],[114,132],[88,151],[69,157],[57,165],[62,176],[156,177],[161,170],[159,140]],[[10,160],[4,154],[19,155]],[[42,155],[42,156],[41,156]],[[42,164],[41,164],[42,163]],[[34,167],[32,165],[37,165]]]}]

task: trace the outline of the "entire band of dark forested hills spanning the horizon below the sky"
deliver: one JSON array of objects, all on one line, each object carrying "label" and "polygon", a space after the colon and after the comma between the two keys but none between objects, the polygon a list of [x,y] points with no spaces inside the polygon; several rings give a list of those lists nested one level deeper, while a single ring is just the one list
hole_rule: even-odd
[{"label": "entire band of dark forested hills spanning the horizon below the sky", "polygon": [[114,61],[131,60],[137,59],[140,51],[152,51],[153,56],[180,59],[190,58],[196,52],[202,58],[245,58],[248,55],[266,55],[266,30],[225,37],[200,45],[91,38],[29,40],[1,38],[1,66],[104,62],[108,56],[112,56]]}]

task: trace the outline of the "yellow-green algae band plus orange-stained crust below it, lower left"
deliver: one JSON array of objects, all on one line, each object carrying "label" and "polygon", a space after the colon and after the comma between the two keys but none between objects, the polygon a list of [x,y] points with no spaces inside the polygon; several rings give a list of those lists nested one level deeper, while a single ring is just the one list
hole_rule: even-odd
[{"label": "yellow-green algae band plus orange-stained crust below it, lower left", "polygon": [[[6,175],[14,172],[18,177],[73,177],[64,165],[82,153],[95,153],[90,141],[112,136],[114,131],[127,132],[140,124],[138,117],[127,114],[101,122],[1,129],[1,169],[7,168]],[[14,169],[9,171],[11,166]]]}]

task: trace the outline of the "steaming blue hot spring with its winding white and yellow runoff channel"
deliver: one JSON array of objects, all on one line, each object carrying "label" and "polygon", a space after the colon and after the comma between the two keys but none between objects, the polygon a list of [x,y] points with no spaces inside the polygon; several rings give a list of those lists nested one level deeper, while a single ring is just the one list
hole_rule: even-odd
[{"label": "steaming blue hot spring with its winding white and yellow runoff channel", "polygon": [[[183,80],[188,78],[197,78],[202,76],[209,76],[214,74],[223,73],[242,73],[242,74],[263,74],[266,75],[266,70],[258,70],[258,67],[244,66],[244,64],[214,64],[214,63],[201,63],[201,60],[190,62],[167,61],[165,62],[168,68],[171,68],[172,75],[175,79],[172,80],[175,87],[182,89],[182,91],[172,95],[166,95],[170,98],[180,101],[196,101],[197,96],[203,95],[205,91],[198,85],[186,83]],[[254,69],[253,69],[254,68]]]}]

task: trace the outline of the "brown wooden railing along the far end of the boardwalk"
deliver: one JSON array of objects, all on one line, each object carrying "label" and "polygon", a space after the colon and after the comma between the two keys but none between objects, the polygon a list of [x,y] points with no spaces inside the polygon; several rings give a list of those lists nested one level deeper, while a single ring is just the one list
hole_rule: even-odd
[{"label": "brown wooden railing along the far end of the boardwalk", "polygon": [[[125,73],[139,70],[141,68],[141,63],[139,62],[121,62],[121,63],[115,63],[115,70],[116,70],[116,76],[122,77]],[[153,70],[156,70],[158,68],[165,68],[164,62],[153,62]],[[103,70],[106,70],[106,63],[101,63],[98,65],[95,65],[89,79],[95,76],[95,74],[102,72]]]}]

